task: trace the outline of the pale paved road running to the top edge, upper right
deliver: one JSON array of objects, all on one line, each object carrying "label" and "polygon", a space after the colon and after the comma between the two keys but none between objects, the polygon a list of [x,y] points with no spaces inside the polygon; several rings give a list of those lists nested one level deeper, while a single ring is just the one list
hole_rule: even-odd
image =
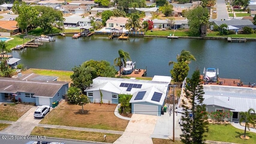
[{"label": "pale paved road running to the top edge, upper right", "polygon": [[217,18],[216,20],[229,19],[228,10],[226,7],[225,0],[217,0]]}]

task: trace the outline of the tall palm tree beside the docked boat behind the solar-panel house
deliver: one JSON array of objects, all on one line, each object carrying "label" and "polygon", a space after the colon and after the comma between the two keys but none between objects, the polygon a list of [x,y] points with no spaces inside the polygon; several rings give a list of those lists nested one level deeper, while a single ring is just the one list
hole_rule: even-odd
[{"label": "tall palm tree beside the docked boat behind the solar-panel house", "polygon": [[131,60],[128,52],[120,49],[118,50],[119,57],[114,59],[114,65],[119,66],[119,76],[121,76],[121,67],[126,65],[126,60]]}]

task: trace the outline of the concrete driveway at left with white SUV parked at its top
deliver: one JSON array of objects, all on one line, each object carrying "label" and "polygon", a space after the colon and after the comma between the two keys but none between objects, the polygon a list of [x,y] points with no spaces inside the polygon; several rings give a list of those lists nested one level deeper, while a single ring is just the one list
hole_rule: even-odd
[{"label": "concrete driveway at left with white SUV parked at its top", "polygon": [[42,120],[42,118],[34,118],[35,110],[36,107],[30,108],[14,124],[2,130],[1,133],[18,136],[30,135],[34,127]]}]

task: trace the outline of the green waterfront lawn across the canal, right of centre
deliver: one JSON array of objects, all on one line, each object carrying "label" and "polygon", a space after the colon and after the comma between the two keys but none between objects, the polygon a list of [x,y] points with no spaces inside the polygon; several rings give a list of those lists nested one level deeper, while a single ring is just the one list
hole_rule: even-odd
[{"label": "green waterfront lawn across the canal, right of centre", "polygon": [[188,34],[188,30],[176,30],[174,32],[174,30],[155,30],[155,31],[150,31],[148,30],[147,32],[145,32],[145,35],[150,35],[150,36],[170,36],[170,34],[174,36],[189,36]]}]

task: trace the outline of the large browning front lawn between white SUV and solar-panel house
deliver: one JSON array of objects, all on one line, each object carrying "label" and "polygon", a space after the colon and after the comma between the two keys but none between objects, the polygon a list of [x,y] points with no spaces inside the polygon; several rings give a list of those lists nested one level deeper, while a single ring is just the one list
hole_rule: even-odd
[{"label": "large browning front lawn between white SUV and solar-panel house", "polygon": [[113,104],[86,104],[85,114],[80,112],[81,108],[61,102],[40,123],[124,131],[129,122],[114,115],[116,105]]}]

